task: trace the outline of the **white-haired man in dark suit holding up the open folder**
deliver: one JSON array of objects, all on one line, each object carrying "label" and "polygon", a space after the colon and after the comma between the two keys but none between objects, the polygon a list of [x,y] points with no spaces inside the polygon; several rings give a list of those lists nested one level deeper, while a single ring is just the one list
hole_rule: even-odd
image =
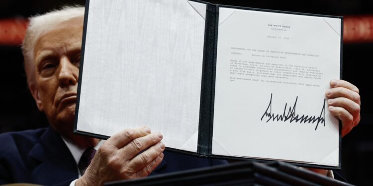
[{"label": "white-haired man in dark suit holding up the open folder", "polygon": [[[162,134],[148,127],[125,129],[105,142],[73,134],[83,15],[82,7],[66,7],[30,19],[22,46],[25,71],[51,127],[0,135],[0,184],[94,186],[226,163],[164,152]],[[343,80],[330,85],[329,111],[342,120],[345,135],[360,121],[359,90]],[[81,161],[90,156],[91,163]]]}]

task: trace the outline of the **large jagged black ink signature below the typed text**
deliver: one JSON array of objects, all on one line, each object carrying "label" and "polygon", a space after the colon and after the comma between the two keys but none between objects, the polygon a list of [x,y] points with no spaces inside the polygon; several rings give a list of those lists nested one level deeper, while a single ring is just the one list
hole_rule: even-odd
[{"label": "large jagged black ink signature below the typed text", "polygon": [[[268,123],[271,119],[272,119],[272,121],[277,120],[277,121],[283,121],[283,122],[286,122],[287,120],[290,120],[290,123],[293,122],[293,121],[295,121],[295,123],[297,123],[297,122],[307,123],[308,122],[309,124],[310,123],[314,124],[315,122],[317,122],[315,130],[319,126],[319,123],[324,124],[324,126],[325,126],[325,99],[324,99],[324,104],[323,104],[323,107],[321,109],[321,113],[320,113],[319,117],[305,116],[305,115],[299,116],[299,114],[295,114],[295,108],[296,108],[296,102],[297,101],[298,101],[298,96],[296,96],[294,106],[292,108],[291,107],[288,108],[287,114],[286,114],[287,103],[285,103],[285,108],[283,109],[283,113],[281,115],[280,114],[275,115],[275,114],[272,113],[272,93],[271,93],[270,104],[268,105],[266,112],[264,112],[264,114],[261,118],[261,121],[263,120],[264,117],[268,117],[268,120],[267,120],[266,123]],[[268,110],[270,112],[268,112]]]}]

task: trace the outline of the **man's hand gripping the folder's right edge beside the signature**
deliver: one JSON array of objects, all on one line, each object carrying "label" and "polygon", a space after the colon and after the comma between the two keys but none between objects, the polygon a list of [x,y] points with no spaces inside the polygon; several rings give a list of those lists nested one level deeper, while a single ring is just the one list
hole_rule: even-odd
[{"label": "man's hand gripping the folder's right edge beside the signature", "polygon": [[360,122],[359,89],[344,80],[331,80],[325,92],[329,111],[342,121],[342,136],[348,134]]}]

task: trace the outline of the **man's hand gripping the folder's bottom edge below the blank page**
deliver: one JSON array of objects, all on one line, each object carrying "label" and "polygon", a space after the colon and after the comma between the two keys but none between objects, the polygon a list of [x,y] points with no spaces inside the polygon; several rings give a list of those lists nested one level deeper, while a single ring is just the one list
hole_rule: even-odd
[{"label": "man's hand gripping the folder's bottom edge below the blank page", "polygon": [[162,138],[161,133],[151,133],[148,127],[116,133],[97,150],[76,186],[102,186],[106,182],[148,176],[162,162]]}]

